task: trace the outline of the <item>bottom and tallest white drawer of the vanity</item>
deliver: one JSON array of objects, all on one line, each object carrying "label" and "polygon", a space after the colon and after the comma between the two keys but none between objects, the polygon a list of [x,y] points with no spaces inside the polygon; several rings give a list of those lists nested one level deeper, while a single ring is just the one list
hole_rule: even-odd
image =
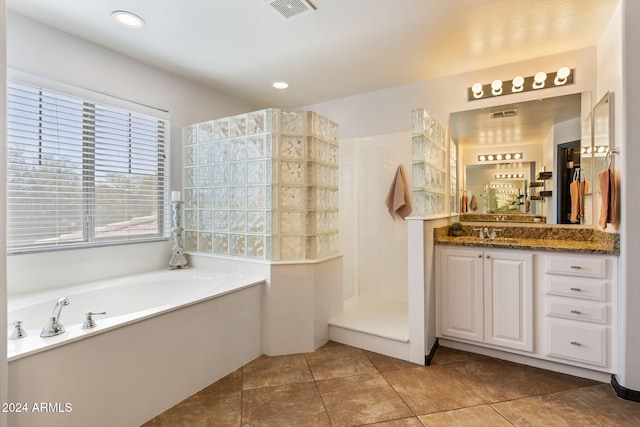
[{"label": "bottom and tallest white drawer of the vanity", "polygon": [[549,320],[548,355],[607,366],[607,328]]}]

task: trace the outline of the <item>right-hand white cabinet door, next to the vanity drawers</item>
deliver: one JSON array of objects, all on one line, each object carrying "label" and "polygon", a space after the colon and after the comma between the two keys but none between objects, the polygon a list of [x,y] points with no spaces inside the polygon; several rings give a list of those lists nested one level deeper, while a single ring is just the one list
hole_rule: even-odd
[{"label": "right-hand white cabinet door, next to the vanity drawers", "polygon": [[485,342],[533,351],[533,255],[484,252]]}]

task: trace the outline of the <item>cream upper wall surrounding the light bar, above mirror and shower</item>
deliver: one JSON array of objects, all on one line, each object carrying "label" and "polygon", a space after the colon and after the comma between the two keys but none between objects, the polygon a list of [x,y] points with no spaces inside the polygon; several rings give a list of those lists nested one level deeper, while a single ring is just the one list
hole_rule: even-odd
[{"label": "cream upper wall surrounding the light bar, above mirror and shower", "polygon": [[[467,89],[475,82],[494,79],[510,80],[522,74],[552,72],[562,66],[576,69],[575,83],[542,92],[513,94],[507,97],[467,101]],[[411,111],[424,108],[438,122],[448,124],[449,114],[456,111],[531,101],[540,96],[551,97],[596,88],[596,50],[585,48],[563,54],[505,64],[500,67],[426,80],[404,86],[368,92],[303,107],[340,124],[341,138],[380,135],[411,129]]]}]

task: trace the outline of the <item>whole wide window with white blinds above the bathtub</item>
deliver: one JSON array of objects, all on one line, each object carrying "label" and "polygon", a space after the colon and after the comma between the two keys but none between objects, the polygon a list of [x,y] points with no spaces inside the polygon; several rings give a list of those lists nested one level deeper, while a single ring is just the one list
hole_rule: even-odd
[{"label": "whole wide window with white blinds above the bathtub", "polygon": [[167,134],[160,118],[9,82],[8,250],[165,237]]}]

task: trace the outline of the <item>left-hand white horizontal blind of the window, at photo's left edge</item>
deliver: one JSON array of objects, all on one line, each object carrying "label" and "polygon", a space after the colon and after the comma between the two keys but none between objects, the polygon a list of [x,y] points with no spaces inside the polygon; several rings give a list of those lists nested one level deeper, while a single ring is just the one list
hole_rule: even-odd
[{"label": "left-hand white horizontal blind of the window, at photo's left edge", "polygon": [[7,245],[82,242],[82,101],[8,83]]}]

